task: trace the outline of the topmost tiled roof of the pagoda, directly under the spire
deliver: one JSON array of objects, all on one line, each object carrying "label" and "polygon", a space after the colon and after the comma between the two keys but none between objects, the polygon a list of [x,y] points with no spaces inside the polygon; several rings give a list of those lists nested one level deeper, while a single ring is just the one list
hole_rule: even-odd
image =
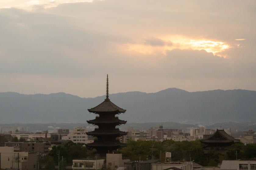
[{"label": "topmost tiled roof of the pagoda, directly under the spire", "polygon": [[117,113],[124,113],[126,112],[125,109],[122,109],[115,104],[113,104],[108,98],[106,98],[101,104],[91,109],[88,109],[91,113],[97,112],[117,112]]}]

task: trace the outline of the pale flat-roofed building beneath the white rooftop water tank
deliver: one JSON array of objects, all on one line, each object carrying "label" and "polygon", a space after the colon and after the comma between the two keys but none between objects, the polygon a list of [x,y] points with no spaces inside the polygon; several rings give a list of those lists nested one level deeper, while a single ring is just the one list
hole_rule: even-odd
[{"label": "pale flat-roofed building beneath the white rooftop water tank", "polygon": [[193,170],[193,161],[190,162],[162,162],[152,164],[152,170],[163,170],[168,168],[180,168],[182,170]]}]

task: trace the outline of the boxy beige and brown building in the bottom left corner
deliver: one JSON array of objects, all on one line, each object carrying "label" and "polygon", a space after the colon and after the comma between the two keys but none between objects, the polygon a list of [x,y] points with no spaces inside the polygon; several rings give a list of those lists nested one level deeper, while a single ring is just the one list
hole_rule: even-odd
[{"label": "boxy beige and brown building in the bottom left corner", "polygon": [[36,170],[35,152],[14,152],[13,147],[0,147],[0,168]]}]

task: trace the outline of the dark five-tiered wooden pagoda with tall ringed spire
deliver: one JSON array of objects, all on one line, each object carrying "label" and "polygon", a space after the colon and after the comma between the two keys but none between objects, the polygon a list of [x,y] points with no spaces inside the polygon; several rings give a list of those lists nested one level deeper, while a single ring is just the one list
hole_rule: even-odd
[{"label": "dark five-tiered wooden pagoda with tall ringed spire", "polygon": [[110,101],[108,96],[108,75],[106,94],[106,99],[101,104],[88,109],[90,113],[99,115],[95,119],[87,121],[89,124],[97,125],[98,128],[95,128],[94,131],[86,132],[87,135],[97,137],[93,143],[86,144],[86,146],[95,148],[102,155],[126,146],[126,144],[119,142],[118,137],[127,134],[127,132],[119,131],[119,128],[116,128],[116,126],[127,122],[119,120],[116,114],[125,113],[126,110]]}]

